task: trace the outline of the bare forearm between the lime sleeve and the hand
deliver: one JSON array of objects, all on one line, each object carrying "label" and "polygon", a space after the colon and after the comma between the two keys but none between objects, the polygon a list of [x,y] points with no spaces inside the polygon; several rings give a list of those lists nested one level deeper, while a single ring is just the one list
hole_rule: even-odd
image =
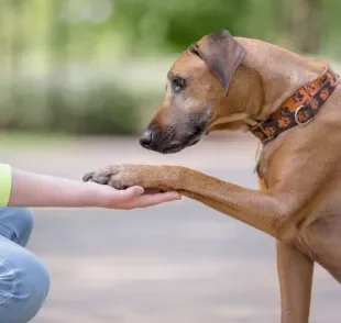
[{"label": "bare forearm between the lime sleeve and the hand", "polygon": [[94,183],[12,169],[9,207],[97,207]]}]

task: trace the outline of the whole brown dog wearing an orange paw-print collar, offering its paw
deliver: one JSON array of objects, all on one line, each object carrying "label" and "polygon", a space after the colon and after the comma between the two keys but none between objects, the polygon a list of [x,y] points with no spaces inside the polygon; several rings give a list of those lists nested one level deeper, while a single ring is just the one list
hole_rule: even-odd
[{"label": "whole brown dog wearing an orange paw-print collar, offering its paw", "polygon": [[282,322],[308,322],[314,263],[341,282],[338,83],[324,62],[227,31],[206,35],[173,65],[141,144],[176,153],[215,130],[251,131],[263,143],[261,189],[176,166],[114,165],[84,180],[176,190],[275,237]]}]

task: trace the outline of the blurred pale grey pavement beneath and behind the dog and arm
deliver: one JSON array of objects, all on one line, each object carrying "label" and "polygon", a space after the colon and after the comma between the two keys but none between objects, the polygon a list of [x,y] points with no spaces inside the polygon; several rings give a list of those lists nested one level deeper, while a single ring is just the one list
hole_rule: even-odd
[{"label": "blurred pale grey pavement beneath and behind the dog and arm", "polygon": [[[130,138],[12,145],[1,160],[70,178],[112,163],[178,164],[256,187],[256,144],[244,137],[172,156]],[[187,199],[139,211],[35,210],[29,247],[52,277],[33,323],[279,322],[273,240]],[[317,267],[311,322],[340,322],[340,286]]]}]

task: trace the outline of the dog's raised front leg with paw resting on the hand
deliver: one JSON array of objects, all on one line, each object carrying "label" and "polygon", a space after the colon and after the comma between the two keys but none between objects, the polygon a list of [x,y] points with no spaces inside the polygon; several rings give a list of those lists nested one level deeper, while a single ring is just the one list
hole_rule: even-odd
[{"label": "dog's raised front leg with paw resting on the hand", "polygon": [[286,196],[280,200],[273,192],[245,189],[185,167],[111,165],[87,174],[84,180],[117,189],[138,185],[176,190],[277,238],[290,234],[293,227],[289,205],[295,204]]}]

